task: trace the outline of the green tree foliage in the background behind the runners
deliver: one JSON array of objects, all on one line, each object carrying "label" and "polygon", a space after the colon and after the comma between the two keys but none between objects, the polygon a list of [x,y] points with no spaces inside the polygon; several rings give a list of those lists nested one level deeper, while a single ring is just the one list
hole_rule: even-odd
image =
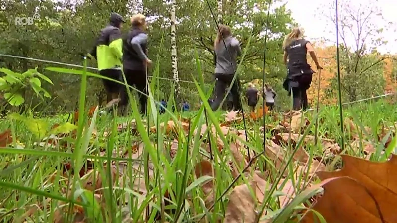
[{"label": "green tree foliage in the background behind the runners", "polygon": [[[269,39],[266,51],[266,79],[282,79],[285,68],[282,64],[281,42],[288,32],[287,25],[293,23],[290,13],[285,5],[275,7],[278,0],[272,2],[274,12],[270,16]],[[216,11],[216,0],[209,0]],[[5,10],[0,11],[0,53],[31,58],[47,59],[72,64],[81,64],[80,53],[91,50],[99,31],[109,22],[110,12],[117,11],[126,17],[131,16],[130,1],[45,1],[30,0],[24,3],[19,0],[1,1]],[[242,48],[247,44],[252,35],[251,44],[241,67],[240,80],[248,82],[252,79],[262,78],[262,64],[264,51],[264,31],[267,17],[267,0],[225,1],[224,22],[233,28],[234,36],[241,42]],[[254,9],[255,8],[255,9]],[[163,98],[168,98],[172,86],[171,46],[170,46],[170,6],[164,0],[143,0],[137,8],[147,16],[149,21],[148,56],[151,59],[159,55],[161,93]],[[30,26],[15,25],[15,17],[32,16],[35,12],[40,14],[40,20]],[[87,13],[89,12],[89,13]],[[202,61],[204,81],[208,87],[213,82],[213,40],[216,35],[215,22],[211,16],[206,1],[178,1],[176,9],[176,40],[178,56],[178,72],[181,80],[192,81],[195,71],[194,46],[197,47],[199,59]],[[124,24],[122,33],[129,30],[129,23]],[[165,32],[164,43],[161,39]],[[1,57],[0,66],[10,70],[23,72],[29,67],[39,67],[39,70],[54,82],[54,86],[46,88],[54,100],[50,110],[75,109],[78,100],[79,83],[81,76],[63,73],[54,74],[42,70],[48,64]],[[96,61],[88,61],[88,66],[96,67]],[[91,70],[89,70],[91,71]],[[94,72],[94,71],[91,71]],[[149,71],[152,75],[153,70]],[[151,79],[149,79],[151,80]],[[76,87],[77,86],[77,87]],[[199,105],[198,92],[192,92],[193,83],[181,82],[181,97],[188,100],[191,105]],[[89,78],[87,84],[87,103],[98,104],[104,98],[102,82],[98,78]],[[31,100],[35,92],[27,91],[26,101],[32,105],[42,103],[46,107],[49,101]]]}]

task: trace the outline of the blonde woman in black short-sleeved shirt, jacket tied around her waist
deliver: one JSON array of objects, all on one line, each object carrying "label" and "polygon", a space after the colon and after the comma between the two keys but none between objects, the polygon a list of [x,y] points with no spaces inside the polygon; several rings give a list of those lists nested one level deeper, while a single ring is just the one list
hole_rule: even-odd
[{"label": "blonde woman in black short-sleeved shirt, jacket tied around her waist", "polygon": [[312,44],[303,38],[303,31],[294,28],[285,37],[283,42],[284,58],[283,62],[287,65],[287,78],[283,87],[290,95],[293,94],[293,110],[307,109],[307,89],[312,83],[313,73],[311,66],[307,63],[307,52],[316,64],[317,70],[322,69]]}]

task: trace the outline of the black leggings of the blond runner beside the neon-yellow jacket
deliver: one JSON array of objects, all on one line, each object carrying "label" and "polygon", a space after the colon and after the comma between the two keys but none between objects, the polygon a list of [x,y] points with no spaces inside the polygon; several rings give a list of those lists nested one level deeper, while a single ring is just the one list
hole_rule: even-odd
[{"label": "black leggings of the blond runner beside the neon-yellow jacket", "polygon": [[[124,75],[126,76],[127,84],[130,86],[135,86],[136,89],[140,91],[140,92],[138,91],[139,103],[140,103],[140,113],[146,114],[146,109],[147,109],[147,96],[146,95],[148,95],[148,91],[147,91],[147,87],[146,87],[146,79],[147,79],[146,71],[125,69]],[[124,82],[124,80],[123,80],[123,82]],[[130,88],[130,90],[132,90],[132,88]],[[143,94],[141,92],[143,92]],[[128,91],[127,91],[127,88],[125,86],[123,86],[120,105],[127,106],[128,101],[129,101]]]}]

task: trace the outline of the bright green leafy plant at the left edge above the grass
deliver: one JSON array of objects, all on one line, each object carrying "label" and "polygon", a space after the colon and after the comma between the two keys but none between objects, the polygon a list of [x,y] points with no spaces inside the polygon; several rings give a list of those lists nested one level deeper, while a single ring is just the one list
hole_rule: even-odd
[{"label": "bright green leafy plant at the left edge above the grass", "polygon": [[51,98],[50,93],[41,87],[41,80],[52,85],[53,82],[39,73],[37,67],[22,74],[6,68],[0,68],[0,72],[5,74],[5,76],[0,77],[0,91],[4,92],[4,98],[12,106],[20,106],[25,101],[22,94],[26,87],[31,87],[38,97]]}]

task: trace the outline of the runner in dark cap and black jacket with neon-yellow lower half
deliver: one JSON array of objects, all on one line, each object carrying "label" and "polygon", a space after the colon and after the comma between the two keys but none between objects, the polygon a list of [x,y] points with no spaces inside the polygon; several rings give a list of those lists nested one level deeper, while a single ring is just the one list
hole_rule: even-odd
[{"label": "runner in dark cap and black jacket with neon-yellow lower half", "polygon": [[[110,23],[101,30],[93,50],[88,54],[97,60],[100,75],[117,81],[122,77],[123,40],[120,29],[125,22],[121,15],[112,13]],[[107,103],[119,98],[120,84],[107,79],[102,79],[102,82],[107,93]]]}]

